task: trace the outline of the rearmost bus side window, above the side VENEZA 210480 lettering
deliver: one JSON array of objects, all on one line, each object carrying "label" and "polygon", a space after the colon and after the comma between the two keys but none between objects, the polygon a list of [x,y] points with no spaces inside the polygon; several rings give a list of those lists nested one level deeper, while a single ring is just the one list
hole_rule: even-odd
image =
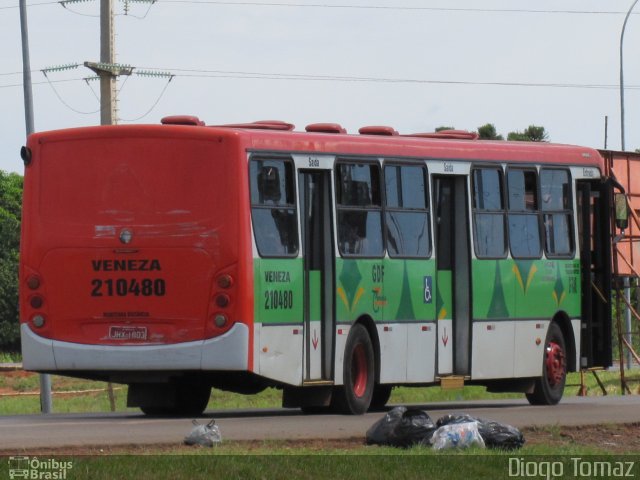
[{"label": "rearmost bus side window, above the side VENEZA 210480 lettering", "polygon": [[251,217],[258,253],[261,257],[297,255],[293,164],[284,159],[252,159],[249,177]]}]

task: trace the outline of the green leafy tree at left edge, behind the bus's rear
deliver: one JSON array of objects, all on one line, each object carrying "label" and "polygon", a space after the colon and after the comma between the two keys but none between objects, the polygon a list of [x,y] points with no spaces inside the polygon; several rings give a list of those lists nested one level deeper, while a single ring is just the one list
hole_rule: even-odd
[{"label": "green leafy tree at left edge, behind the bus's rear", "polygon": [[17,351],[18,255],[23,178],[0,170],[0,349]]}]

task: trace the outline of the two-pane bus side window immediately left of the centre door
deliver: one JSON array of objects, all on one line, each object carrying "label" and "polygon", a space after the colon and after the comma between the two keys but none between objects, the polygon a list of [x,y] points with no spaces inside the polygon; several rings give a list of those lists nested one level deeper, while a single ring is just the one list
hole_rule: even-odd
[{"label": "two-pane bus side window immediately left of the centre door", "polygon": [[392,258],[431,255],[427,171],[422,166],[387,165],[385,231]]}]

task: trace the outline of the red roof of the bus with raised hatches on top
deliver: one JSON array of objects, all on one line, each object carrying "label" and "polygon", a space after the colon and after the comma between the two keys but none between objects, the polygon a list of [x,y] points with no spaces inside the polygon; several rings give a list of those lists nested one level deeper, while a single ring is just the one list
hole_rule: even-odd
[{"label": "red roof of the bus with raised hatches on top", "polygon": [[[184,123],[181,119],[185,119]],[[72,138],[113,138],[122,135],[175,136],[176,138],[215,138],[232,136],[245,150],[299,152],[354,156],[382,156],[419,159],[464,160],[591,166],[604,174],[599,152],[588,147],[546,142],[509,142],[473,139],[464,132],[437,134],[390,134],[391,127],[363,127],[361,134],[347,134],[338,124],[331,128],[293,131],[293,125],[268,120],[220,126],[204,126],[197,117],[174,116],[163,125],[116,125],[82,127],[36,133],[32,141],[48,142]],[[345,132],[345,133],[343,133]]]}]

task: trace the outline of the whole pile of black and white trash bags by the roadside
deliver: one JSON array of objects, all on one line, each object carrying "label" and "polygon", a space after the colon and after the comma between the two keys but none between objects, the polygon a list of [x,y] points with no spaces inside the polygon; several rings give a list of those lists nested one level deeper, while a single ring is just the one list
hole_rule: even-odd
[{"label": "whole pile of black and white trash bags by the roadside", "polygon": [[511,425],[467,414],[445,415],[434,423],[423,410],[395,407],[369,428],[367,444],[402,448],[427,445],[435,450],[471,446],[514,450],[524,445],[524,436]]}]

